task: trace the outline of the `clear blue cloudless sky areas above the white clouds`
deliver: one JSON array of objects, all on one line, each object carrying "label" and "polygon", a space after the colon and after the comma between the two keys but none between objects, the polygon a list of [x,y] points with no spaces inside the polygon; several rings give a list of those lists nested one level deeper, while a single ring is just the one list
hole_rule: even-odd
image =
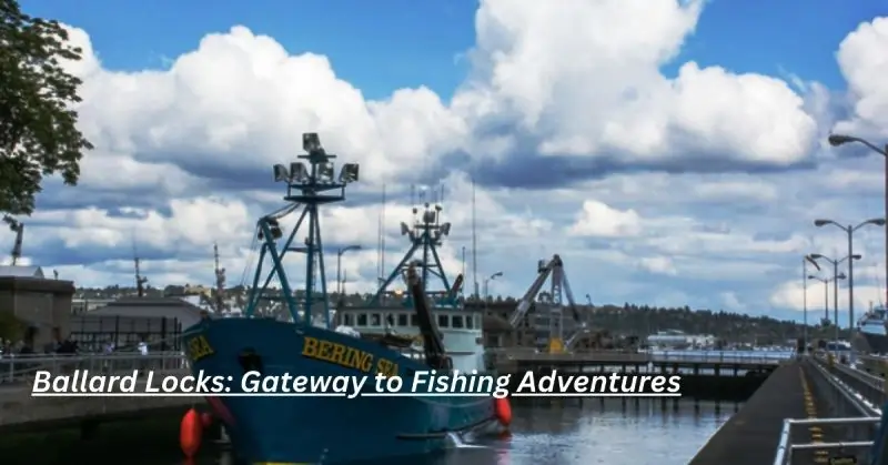
[{"label": "clear blue cloudless sky areas above the white clouds", "polygon": [[[878,0],[714,0],[679,61],[720,64],[736,72],[791,72],[841,88],[835,46],[862,21],[888,12]],[[61,3],[30,0],[33,14],[90,32],[110,69],[164,68],[208,32],[243,24],[274,37],[292,53],[323,53],[336,71],[376,99],[404,87],[452,94],[467,72],[457,57],[474,44],[477,1],[194,0]],[[667,73],[673,67],[665,67]]]}]

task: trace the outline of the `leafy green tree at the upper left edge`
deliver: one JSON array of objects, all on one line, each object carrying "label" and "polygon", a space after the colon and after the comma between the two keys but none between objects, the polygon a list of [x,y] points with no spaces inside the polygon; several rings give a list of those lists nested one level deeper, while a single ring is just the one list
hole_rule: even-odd
[{"label": "leafy green tree at the upper left edge", "polygon": [[68,43],[58,21],[22,13],[17,0],[0,0],[0,212],[29,215],[43,176],[80,178],[80,159],[92,144],[77,129],[81,80],[63,60],[82,50]]}]

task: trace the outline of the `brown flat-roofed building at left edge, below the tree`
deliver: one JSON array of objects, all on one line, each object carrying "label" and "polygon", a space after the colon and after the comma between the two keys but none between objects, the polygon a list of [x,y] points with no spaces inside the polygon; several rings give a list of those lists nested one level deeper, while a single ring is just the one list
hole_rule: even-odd
[{"label": "brown flat-roofed building at left edge, below the tree", "polygon": [[[31,333],[34,348],[70,331],[74,283],[47,279],[40,266],[0,266],[0,312],[11,312]],[[24,335],[22,334],[22,337]]]}]

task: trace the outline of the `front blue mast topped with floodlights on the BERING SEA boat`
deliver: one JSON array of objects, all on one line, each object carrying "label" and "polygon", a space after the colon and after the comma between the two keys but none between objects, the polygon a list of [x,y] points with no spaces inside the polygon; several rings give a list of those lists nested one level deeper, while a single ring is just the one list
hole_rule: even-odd
[{"label": "front blue mast topped with floodlights on the BERING SEA boat", "polygon": [[[262,216],[256,224],[258,237],[262,245],[259,250],[259,265],[253,275],[253,286],[250,289],[245,313],[248,317],[253,315],[260,301],[265,297],[264,294],[269,283],[276,277],[283,292],[281,299],[296,324],[312,324],[312,309],[315,304],[314,290],[320,286],[324,323],[326,327],[330,327],[330,299],[326,292],[319,206],[345,200],[345,186],[357,181],[359,165],[357,163],[344,163],[339,178],[334,178],[334,165],[331,160],[335,159],[336,155],[326,153],[321,146],[321,140],[316,133],[302,134],[302,148],[307,154],[299,155],[297,158],[305,160],[307,166],[305,162],[301,161],[290,163],[289,169],[283,164],[273,166],[274,181],[286,185],[284,200],[287,204],[276,212]],[[302,213],[296,224],[283,245],[279,246],[279,241],[284,235],[279,221],[299,209],[302,209]],[[305,233],[307,235],[304,240],[304,246],[295,246],[293,240],[306,219],[305,229],[307,231]],[[291,287],[284,270],[283,261],[289,255],[289,252],[305,254],[305,291],[302,316],[299,313],[300,309],[294,290]],[[271,270],[265,274],[263,273],[263,265],[265,264],[266,255],[271,259]],[[314,276],[315,270],[317,270],[316,281]],[[260,279],[263,275],[265,281],[260,285]]]}]

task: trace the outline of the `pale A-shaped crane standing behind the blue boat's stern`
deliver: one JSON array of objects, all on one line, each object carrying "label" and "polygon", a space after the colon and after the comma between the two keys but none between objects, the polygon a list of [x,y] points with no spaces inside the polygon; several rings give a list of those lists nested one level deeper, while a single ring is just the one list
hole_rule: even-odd
[{"label": "pale A-shaped crane standing behind the blue boat's stern", "polygon": [[[527,316],[527,312],[531,310],[531,306],[543,290],[543,285],[547,280],[549,281],[548,299],[547,302],[541,302],[548,306],[548,337],[546,345],[549,352],[557,353],[563,352],[565,348],[562,295],[567,300],[567,307],[571,310],[574,321],[581,324],[579,313],[574,302],[574,293],[571,291],[571,284],[567,282],[567,274],[564,272],[564,262],[557,254],[553,255],[552,260],[548,262],[545,260],[538,262],[536,280],[534,280],[527,289],[527,292],[518,301],[518,305],[515,307],[515,312],[512,313],[512,317],[509,319],[509,324],[512,327],[519,326]],[[568,340],[568,342],[573,341]],[[539,343],[539,341],[537,341],[537,343]]]}]

